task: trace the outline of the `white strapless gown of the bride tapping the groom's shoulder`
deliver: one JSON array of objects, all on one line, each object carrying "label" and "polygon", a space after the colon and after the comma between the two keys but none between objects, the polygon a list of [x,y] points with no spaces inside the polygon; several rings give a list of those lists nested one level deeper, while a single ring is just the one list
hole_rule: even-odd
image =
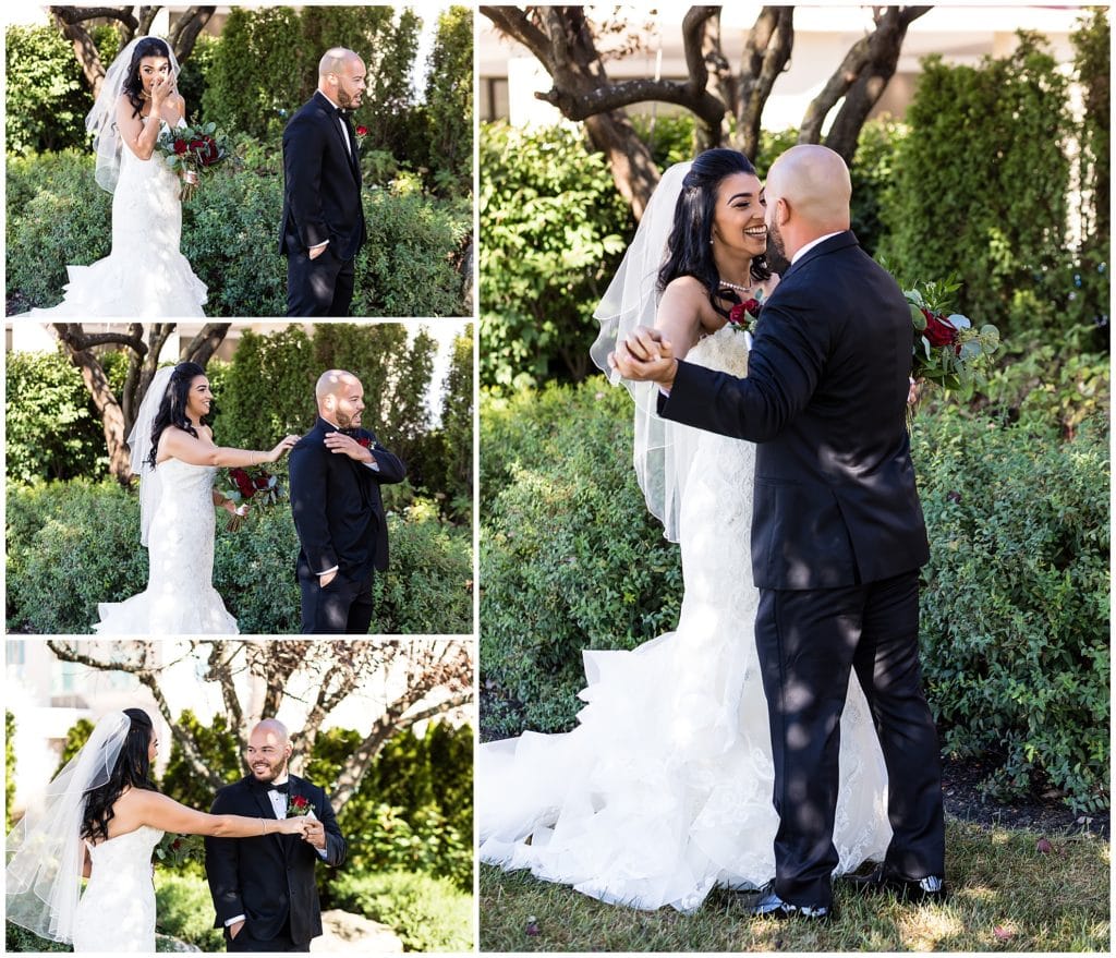
[{"label": "white strapless gown of the bride tapping the groom's shoulder", "polygon": [[[158,505],[147,530],[147,588],[97,606],[94,631],[109,635],[235,634],[213,588],[213,466],[167,459],[155,467]],[[144,481],[151,481],[145,479]]]}]

